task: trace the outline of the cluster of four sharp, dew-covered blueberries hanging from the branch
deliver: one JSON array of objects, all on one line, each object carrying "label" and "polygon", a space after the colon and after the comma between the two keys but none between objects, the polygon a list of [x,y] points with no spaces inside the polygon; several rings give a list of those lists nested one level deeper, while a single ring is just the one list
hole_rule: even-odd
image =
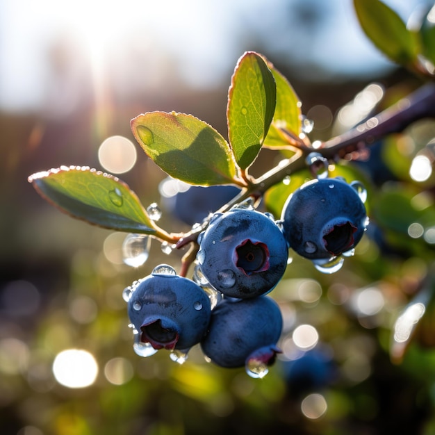
[{"label": "cluster of four sharp, dew-covered blueberries hanging from the branch", "polygon": [[136,352],[166,349],[183,362],[199,344],[217,366],[263,377],[283,325],[267,294],[286,271],[289,249],[315,264],[352,252],[368,223],[363,195],[361,183],[314,179],[288,197],[280,221],[243,204],[209,217],[193,279],[159,265],[124,290]]}]

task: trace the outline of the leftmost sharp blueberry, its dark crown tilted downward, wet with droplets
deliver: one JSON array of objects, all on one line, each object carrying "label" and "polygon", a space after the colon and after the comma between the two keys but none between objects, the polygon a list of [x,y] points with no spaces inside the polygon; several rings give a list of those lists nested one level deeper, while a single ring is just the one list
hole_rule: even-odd
[{"label": "leftmost sharp blueberry, its dark crown tilted downward, wet with droplets", "polygon": [[188,349],[199,343],[211,318],[210,300],[190,279],[151,274],[128,303],[129,318],[143,343],[154,349]]}]

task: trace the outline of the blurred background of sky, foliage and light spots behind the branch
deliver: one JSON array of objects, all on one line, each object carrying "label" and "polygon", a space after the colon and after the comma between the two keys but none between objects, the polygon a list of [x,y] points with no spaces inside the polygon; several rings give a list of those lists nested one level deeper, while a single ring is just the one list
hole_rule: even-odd
[{"label": "blurred background of sky, foliage and light spots behind the branch", "polygon": [[[408,20],[431,2],[386,3]],[[227,90],[247,50],[293,85],[314,121],[311,140],[422,84],[372,46],[351,0],[0,0],[2,434],[435,434],[425,281],[434,181],[411,170],[435,137],[432,121],[348,165],[368,188],[370,231],[336,274],[294,258],[272,293],[284,352],[264,379],[217,368],[195,349],[183,365],[167,352],[133,352],[122,291],[159,263],[177,268],[182,253],[154,240],[147,262],[131,268],[126,234],[60,213],[27,181],[60,165],[96,167],[145,206],[156,202],[162,227],[187,230],[129,122],[176,110],[227,136]],[[276,163],[266,154],[256,170]],[[407,304],[422,307],[407,321],[418,331],[393,346]]]}]

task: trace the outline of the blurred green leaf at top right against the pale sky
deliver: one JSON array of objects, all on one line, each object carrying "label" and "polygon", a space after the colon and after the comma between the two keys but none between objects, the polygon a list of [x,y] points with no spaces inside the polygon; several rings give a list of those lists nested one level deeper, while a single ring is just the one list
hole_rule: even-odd
[{"label": "blurred green leaf at top right against the pale sky", "polygon": [[404,66],[416,60],[416,40],[391,8],[379,0],[354,0],[354,8],[363,31],[388,58]]}]

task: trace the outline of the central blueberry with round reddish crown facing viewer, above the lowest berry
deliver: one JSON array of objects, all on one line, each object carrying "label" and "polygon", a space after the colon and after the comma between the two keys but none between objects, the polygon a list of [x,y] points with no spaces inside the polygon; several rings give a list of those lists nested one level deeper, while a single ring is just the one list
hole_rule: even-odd
[{"label": "central blueberry with round reddish crown facing viewer, above the lowest berry", "polygon": [[197,261],[210,284],[229,297],[268,293],[283,276],[288,247],[277,224],[253,209],[212,217],[199,237]]}]

